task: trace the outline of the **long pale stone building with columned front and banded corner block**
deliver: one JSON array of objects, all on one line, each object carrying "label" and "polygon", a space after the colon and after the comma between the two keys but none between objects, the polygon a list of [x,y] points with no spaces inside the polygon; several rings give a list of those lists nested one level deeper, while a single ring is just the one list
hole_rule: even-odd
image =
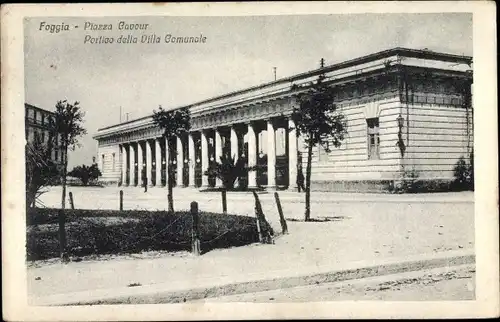
[{"label": "long pale stone building with columned front and banded corner block", "polygon": [[307,156],[290,116],[319,75],[335,89],[348,135],[340,148],[315,147],[312,189],[380,190],[409,171],[452,180],[457,160],[472,152],[472,58],[394,48],[191,104],[191,131],[171,155],[152,115],[101,128],[101,179],[140,186],[145,175],[164,186],[171,164],[178,186],[218,187],[203,174],[229,151],[260,165],[248,187],[295,189]]}]

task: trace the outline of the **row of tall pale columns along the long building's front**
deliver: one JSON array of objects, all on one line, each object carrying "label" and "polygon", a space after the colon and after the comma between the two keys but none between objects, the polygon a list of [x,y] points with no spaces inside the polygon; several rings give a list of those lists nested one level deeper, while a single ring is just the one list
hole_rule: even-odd
[{"label": "row of tall pale columns along the long building's front", "polygon": [[[250,169],[248,188],[255,188],[258,186],[257,173],[253,169],[257,166],[258,135],[266,130],[266,187],[273,189],[276,187],[276,130],[280,127],[286,130],[289,188],[295,188],[297,134],[293,121],[283,117],[192,131],[170,142],[166,138],[156,137],[120,144],[121,183],[123,186],[147,184],[150,187],[162,187],[166,185],[168,175],[174,175],[176,186],[222,187],[219,178],[215,178],[215,182],[209,182],[205,173],[212,162],[219,162],[223,153],[230,153],[235,162],[241,157],[247,159],[246,164]],[[244,140],[245,136],[247,142]],[[168,171],[169,166],[171,171]],[[201,180],[196,180],[200,179],[200,175]]]}]

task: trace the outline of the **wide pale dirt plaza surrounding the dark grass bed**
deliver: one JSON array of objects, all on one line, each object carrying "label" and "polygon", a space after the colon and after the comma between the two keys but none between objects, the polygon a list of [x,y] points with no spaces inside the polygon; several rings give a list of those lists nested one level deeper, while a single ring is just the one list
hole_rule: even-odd
[{"label": "wide pale dirt plaza surrounding the dark grass bed", "polygon": [[[76,208],[118,209],[119,188],[70,187]],[[125,188],[124,209],[165,209],[166,190],[148,192]],[[47,207],[60,205],[60,189],[45,193]],[[268,221],[279,231],[272,193],[260,194]],[[341,194],[313,193],[313,222],[303,217],[303,194],[281,192],[289,234],[274,245],[249,245],[210,251],[200,257],[189,253],[103,256],[70,262],[57,260],[28,264],[29,293],[35,298],[95,289],[154,285],[197,278],[278,271],[309,271],[311,267],[337,267],[357,261],[376,262],[420,254],[474,249],[473,193],[446,194]],[[249,193],[228,193],[228,212],[253,216]],[[217,192],[175,189],[176,210],[198,201],[200,209],[221,211]],[[210,268],[210,269],[208,269]],[[116,272],[120,272],[117,274]],[[194,274],[194,275],[193,275]],[[61,283],[65,280],[65,283]]]}]

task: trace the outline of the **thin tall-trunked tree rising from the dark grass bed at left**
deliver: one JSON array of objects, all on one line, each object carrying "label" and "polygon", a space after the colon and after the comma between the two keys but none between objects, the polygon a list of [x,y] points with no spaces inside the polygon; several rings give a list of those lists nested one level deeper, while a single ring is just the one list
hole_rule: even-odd
[{"label": "thin tall-trunked tree rising from the dark grass bed at left", "polygon": [[73,104],[67,100],[58,101],[53,118],[49,118],[49,127],[53,133],[60,137],[62,152],[62,196],[61,211],[59,212],[59,236],[61,247],[61,258],[67,260],[66,254],[66,231],[64,228],[66,208],[66,176],[68,172],[68,150],[75,150],[79,146],[78,139],[87,131],[83,128],[83,117],[85,113],[81,110],[79,102]]}]

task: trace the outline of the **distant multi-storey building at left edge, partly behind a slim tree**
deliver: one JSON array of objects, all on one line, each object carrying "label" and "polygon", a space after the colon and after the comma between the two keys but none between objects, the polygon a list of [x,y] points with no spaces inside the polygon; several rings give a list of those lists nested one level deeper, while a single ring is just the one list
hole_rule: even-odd
[{"label": "distant multi-storey building at left edge, partly behind a slim tree", "polygon": [[[41,142],[46,144],[51,137],[49,119],[54,117],[54,113],[27,103],[24,104],[24,110],[26,143],[32,143],[35,138],[38,138]],[[55,137],[54,135],[52,135],[52,137],[54,137],[54,143],[51,158],[56,163],[62,163],[63,151],[59,146],[59,137]]]}]

